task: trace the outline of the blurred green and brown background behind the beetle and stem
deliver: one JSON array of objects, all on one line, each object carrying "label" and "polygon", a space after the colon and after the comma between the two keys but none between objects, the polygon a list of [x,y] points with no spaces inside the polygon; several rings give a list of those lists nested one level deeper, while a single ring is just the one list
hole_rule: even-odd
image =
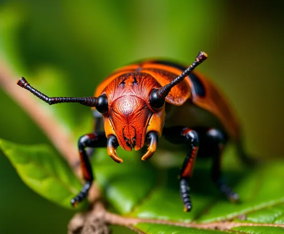
[{"label": "blurred green and brown background behind the beetle and stem", "polygon": [[[119,66],[149,57],[189,64],[203,50],[199,69],[237,111],[247,151],[282,157],[284,5],[276,2],[0,1],[0,60],[15,82],[24,76],[49,96],[89,96]],[[5,90],[0,100],[0,138],[50,144]],[[89,108],[53,108],[76,138],[91,131]],[[2,153],[0,191],[0,234],[66,233],[73,213],[31,191]]]}]

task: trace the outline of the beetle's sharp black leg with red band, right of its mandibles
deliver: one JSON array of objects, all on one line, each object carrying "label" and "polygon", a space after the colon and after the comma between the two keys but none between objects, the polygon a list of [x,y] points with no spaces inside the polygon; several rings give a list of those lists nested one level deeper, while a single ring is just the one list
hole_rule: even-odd
[{"label": "beetle's sharp black leg with red band, right of its mandibles", "polygon": [[192,176],[194,162],[198,151],[199,139],[196,131],[188,127],[170,127],[163,130],[165,137],[172,143],[185,143],[189,145],[188,153],[184,159],[180,172],[180,194],[184,204],[184,211],[192,208],[187,178]]}]

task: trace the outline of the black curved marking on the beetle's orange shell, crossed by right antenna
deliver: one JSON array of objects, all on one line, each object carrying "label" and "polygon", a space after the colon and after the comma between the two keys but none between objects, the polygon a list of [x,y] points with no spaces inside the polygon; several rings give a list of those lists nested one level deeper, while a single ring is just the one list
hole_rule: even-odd
[{"label": "black curved marking on the beetle's orange shell, crossed by right antenna", "polygon": [[[170,61],[153,61],[153,63],[158,63],[158,64],[163,64],[163,65],[168,65],[168,66],[172,66],[172,67],[175,67],[177,69],[180,70],[180,74],[182,71],[184,71],[187,67],[184,67],[180,64],[176,64],[176,63],[173,63],[173,62],[170,62]],[[193,88],[194,88],[194,91],[195,93],[200,96],[200,97],[205,97],[206,93],[205,93],[205,88],[204,88],[204,85],[202,84],[202,82],[200,81],[200,79],[193,73],[190,73],[189,75],[189,78],[193,84]]]}]

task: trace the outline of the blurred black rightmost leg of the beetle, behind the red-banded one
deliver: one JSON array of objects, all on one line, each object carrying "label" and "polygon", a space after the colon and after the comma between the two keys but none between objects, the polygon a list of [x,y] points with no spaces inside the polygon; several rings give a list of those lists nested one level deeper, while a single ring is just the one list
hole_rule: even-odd
[{"label": "blurred black rightmost leg of the beetle, behind the red-banded one", "polygon": [[239,199],[238,194],[233,192],[221,178],[221,157],[226,142],[224,133],[219,129],[210,128],[206,132],[206,138],[210,154],[213,156],[212,179],[230,201],[236,202]]}]

